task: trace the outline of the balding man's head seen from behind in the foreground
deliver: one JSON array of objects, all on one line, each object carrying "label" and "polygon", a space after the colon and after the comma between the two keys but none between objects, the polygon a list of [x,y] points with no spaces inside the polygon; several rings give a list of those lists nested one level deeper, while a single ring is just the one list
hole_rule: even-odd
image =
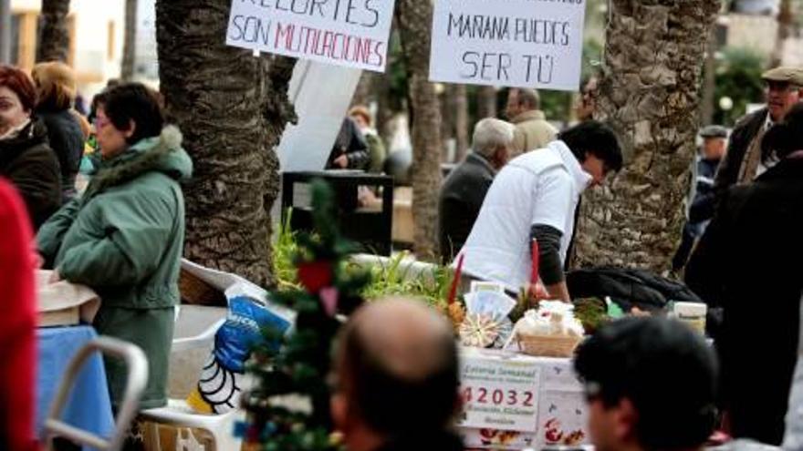
[{"label": "balding man's head seen from behind in the foreground", "polygon": [[331,411],[349,451],[462,449],[451,430],[457,349],[441,315],[422,302],[371,302],[337,343]]}]

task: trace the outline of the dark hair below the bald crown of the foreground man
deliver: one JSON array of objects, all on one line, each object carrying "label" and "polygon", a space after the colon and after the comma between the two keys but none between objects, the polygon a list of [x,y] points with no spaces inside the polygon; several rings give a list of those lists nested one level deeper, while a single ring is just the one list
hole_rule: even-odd
[{"label": "dark hair below the bald crown of the foreground man", "polygon": [[371,429],[388,437],[437,436],[448,429],[460,384],[453,337],[444,334],[438,343],[438,364],[421,379],[394,374],[381,355],[366,346],[359,328],[346,333],[340,345],[354,407]]}]

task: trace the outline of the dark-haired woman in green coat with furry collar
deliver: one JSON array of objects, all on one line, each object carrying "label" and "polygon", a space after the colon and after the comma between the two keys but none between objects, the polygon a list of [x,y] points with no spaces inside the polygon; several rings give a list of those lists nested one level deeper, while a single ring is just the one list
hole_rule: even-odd
[{"label": "dark-haired woman in green coat with furry collar", "polygon": [[[193,163],[154,93],[141,84],[111,89],[96,128],[102,163],[82,197],[71,200],[36,236],[54,278],[89,285],[101,306],[94,326],[142,348],[149,379],[141,408],[166,405],[173,308],[184,241],[179,182]],[[112,403],[126,384],[125,364],[105,360]]]}]

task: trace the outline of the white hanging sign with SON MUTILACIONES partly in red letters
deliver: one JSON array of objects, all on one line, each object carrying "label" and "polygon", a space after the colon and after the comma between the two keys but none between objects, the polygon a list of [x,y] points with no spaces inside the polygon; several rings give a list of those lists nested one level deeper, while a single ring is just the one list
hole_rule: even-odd
[{"label": "white hanging sign with SON MUTILACIONES partly in red letters", "polygon": [[232,0],[226,44],[383,72],[394,0]]}]

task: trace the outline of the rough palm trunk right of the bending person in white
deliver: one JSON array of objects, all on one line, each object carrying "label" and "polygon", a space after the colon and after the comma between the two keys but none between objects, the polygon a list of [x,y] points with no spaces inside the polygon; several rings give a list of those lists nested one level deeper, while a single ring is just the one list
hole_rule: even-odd
[{"label": "rough palm trunk right of the bending person in white", "polygon": [[598,118],[625,167],[583,201],[579,266],[668,269],[683,226],[700,78],[718,0],[611,0]]}]

